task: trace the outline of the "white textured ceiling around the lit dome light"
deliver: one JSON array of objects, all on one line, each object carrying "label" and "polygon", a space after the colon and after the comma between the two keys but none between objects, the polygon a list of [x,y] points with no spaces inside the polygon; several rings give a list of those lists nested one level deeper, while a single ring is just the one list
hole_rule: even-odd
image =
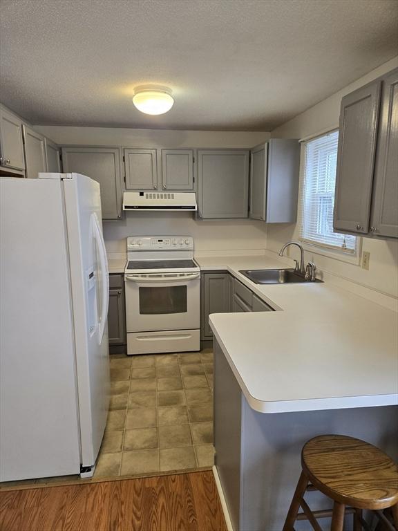
[{"label": "white textured ceiling around the lit dome light", "polygon": [[[1,0],[0,100],[34,124],[268,131],[398,54],[396,0]],[[133,87],[170,86],[146,116]]]}]

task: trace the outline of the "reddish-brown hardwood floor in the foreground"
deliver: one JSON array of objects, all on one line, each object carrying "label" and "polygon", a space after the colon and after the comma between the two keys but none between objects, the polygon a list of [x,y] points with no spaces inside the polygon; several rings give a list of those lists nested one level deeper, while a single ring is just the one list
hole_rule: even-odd
[{"label": "reddish-brown hardwood floor in the foreground", "polygon": [[227,531],[212,472],[0,492],[1,531]]}]

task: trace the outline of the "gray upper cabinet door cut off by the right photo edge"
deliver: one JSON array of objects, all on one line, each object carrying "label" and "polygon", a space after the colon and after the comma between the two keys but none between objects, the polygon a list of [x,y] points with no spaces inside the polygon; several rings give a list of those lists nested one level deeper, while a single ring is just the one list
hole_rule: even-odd
[{"label": "gray upper cabinet door cut off by the right photo edge", "polygon": [[372,232],[398,238],[398,69],[383,82]]}]

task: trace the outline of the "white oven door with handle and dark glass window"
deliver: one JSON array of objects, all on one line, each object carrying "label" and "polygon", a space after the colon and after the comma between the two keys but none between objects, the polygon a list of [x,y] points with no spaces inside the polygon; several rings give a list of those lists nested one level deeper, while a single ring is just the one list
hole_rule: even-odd
[{"label": "white oven door with handle and dark glass window", "polygon": [[127,332],[200,327],[200,273],[125,274]]}]

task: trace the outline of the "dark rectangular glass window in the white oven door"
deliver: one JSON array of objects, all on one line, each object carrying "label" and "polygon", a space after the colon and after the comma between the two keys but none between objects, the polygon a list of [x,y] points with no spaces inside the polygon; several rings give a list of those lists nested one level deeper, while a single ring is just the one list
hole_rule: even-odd
[{"label": "dark rectangular glass window in the white oven door", "polygon": [[140,288],[140,315],[187,312],[187,286]]}]

